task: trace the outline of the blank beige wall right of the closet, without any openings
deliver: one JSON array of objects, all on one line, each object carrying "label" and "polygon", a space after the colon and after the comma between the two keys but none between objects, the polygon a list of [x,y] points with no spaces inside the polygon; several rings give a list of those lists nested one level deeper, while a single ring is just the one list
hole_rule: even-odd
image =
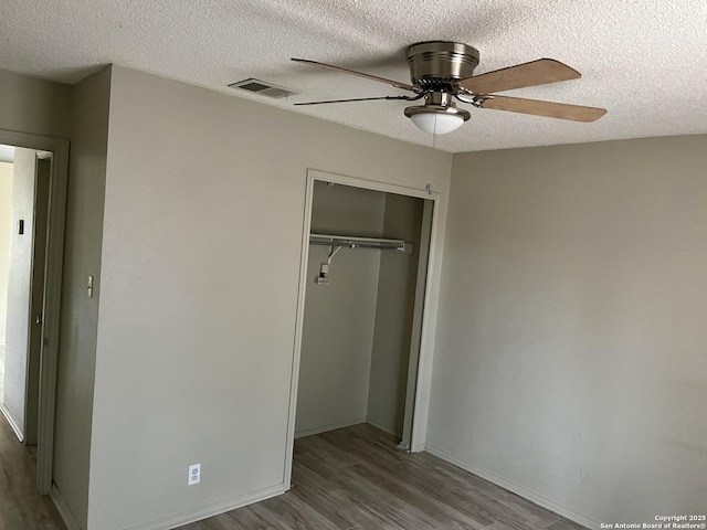
[{"label": "blank beige wall right of the closet, without any openings", "polygon": [[457,155],[429,445],[585,522],[707,499],[707,136]]}]

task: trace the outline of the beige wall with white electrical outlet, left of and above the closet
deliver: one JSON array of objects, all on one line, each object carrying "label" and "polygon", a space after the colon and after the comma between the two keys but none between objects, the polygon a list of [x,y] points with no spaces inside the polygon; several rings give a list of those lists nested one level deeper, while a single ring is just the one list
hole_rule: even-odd
[{"label": "beige wall with white electrical outlet, left of and above the closet", "polygon": [[[423,189],[429,161],[114,67],[89,528],[176,524],[282,489],[306,170]],[[436,158],[439,236],[450,168]]]}]

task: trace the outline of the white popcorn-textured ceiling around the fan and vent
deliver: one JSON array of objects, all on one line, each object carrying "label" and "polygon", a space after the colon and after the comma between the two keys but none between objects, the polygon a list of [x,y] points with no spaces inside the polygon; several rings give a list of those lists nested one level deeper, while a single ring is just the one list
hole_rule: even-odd
[{"label": "white popcorn-textured ceiling around the fan and vent", "polygon": [[[418,144],[404,102],[293,107],[401,94],[298,65],[305,57],[409,82],[407,45],[458,41],[487,71],[552,57],[583,74],[504,93],[600,106],[594,124],[472,110],[449,151],[707,132],[706,0],[2,0],[0,68],[75,83],[106,63],[218,91],[256,77],[300,93],[249,98]],[[239,92],[240,94],[240,92]],[[243,96],[241,96],[243,97]]]}]

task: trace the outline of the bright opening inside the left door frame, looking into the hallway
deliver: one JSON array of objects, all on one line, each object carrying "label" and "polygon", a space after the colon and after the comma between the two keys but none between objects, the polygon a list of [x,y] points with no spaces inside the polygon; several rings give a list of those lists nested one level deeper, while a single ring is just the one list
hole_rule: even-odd
[{"label": "bright opening inside the left door frame, looking into the hallway", "polygon": [[52,153],[1,146],[0,409],[25,445],[36,445],[44,272]]}]

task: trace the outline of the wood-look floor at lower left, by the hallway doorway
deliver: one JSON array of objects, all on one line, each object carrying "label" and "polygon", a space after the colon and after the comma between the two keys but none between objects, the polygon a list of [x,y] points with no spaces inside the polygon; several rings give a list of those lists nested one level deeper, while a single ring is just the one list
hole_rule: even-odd
[{"label": "wood-look floor at lower left, by the hallway doorway", "polygon": [[0,413],[0,529],[66,530],[49,497],[36,494],[36,458]]}]

